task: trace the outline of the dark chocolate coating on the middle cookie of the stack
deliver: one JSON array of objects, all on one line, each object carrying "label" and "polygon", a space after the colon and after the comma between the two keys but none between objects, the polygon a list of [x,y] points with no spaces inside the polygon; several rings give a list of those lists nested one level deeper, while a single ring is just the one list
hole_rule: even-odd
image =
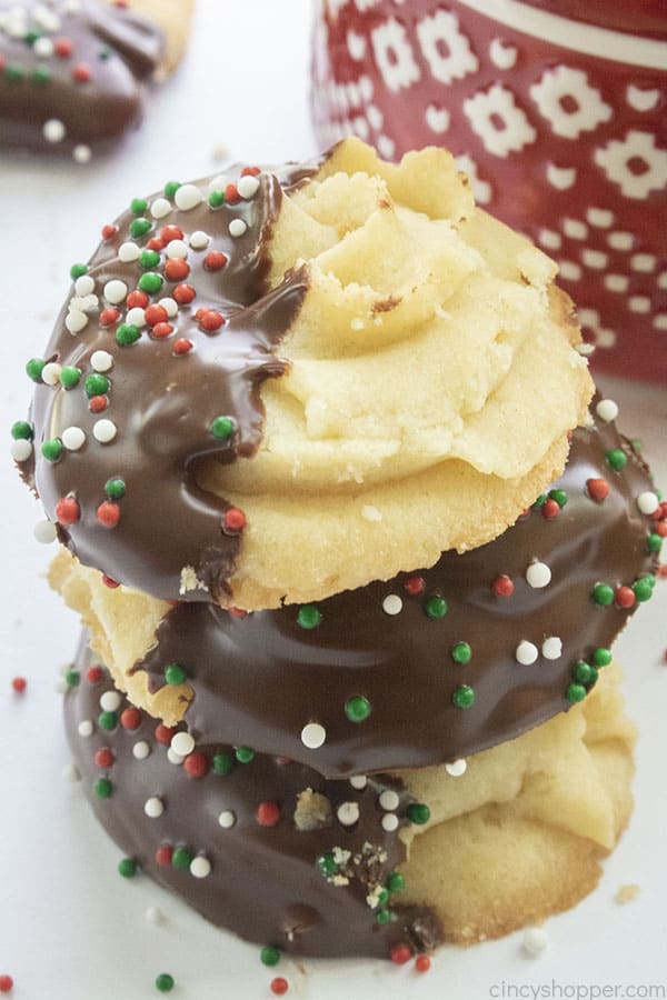
[{"label": "dark chocolate coating on the middle cookie of the stack", "polygon": [[[627,457],[618,472],[606,460],[617,448]],[[607,481],[605,500],[591,498],[590,479]],[[168,664],[187,670],[195,697],[186,718],[197,739],[285,753],[330,778],[440,763],[512,739],[569,708],[576,664],[593,663],[634,610],[596,603],[594,587],[631,587],[657,564],[647,548],[656,524],[636,503],[650,490],[647,469],[613,424],[575,431],[555,489],[567,496],[557,517],[534,509],[489,544],[336,594],[319,602],[311,629],[299,624],[297,606],[239,618],[179,604],[136,670],[148,671],[153,690]],[[550,569],[548,586],[528,583],[536,561]],[[511,597],[496,593],[500,576],[511,578]],[[399,613],[384,610],[389,594],[401,599]],[[448,610],[432,619],[426,609],[438,596]],[[550,637],[563,643],[555,659],[545,656],[554,654],[554,642],[544,647]],[[529,666],[516,658],[524,640],[536,647]],[[456,661],[466,652],[458,643],[469,644],[468,662]],[[469,708],[455,703],[464,686],[475,692]],[[346,714],[355,696],[370,703],[365,721]],[[301,741],[309,722],[326,729],[318,749]]]}]

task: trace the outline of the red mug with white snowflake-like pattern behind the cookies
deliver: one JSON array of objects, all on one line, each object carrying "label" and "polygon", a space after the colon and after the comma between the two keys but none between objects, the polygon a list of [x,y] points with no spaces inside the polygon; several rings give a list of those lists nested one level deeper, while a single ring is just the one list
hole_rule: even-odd
[{"label": "red mug with white snowflake-like pattern behind the cookies", "polygon": [[325,146],[447,146],[555,258],[598,371],[667,381],[667,0],[326,0]]}]

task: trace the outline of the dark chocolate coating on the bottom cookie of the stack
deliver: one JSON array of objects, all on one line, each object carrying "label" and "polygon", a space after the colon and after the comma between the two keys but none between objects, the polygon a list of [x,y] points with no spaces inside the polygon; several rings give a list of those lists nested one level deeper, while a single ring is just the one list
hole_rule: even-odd
[{"label": "dark chocolate coating on the bottom cookie of the stack", "polygon": [[[211,767],[213,757],[235,757],[233,748],[220,744],[197,747],[210,769],[201,778],[191,778],[183,766],[169,761],[167,746],[155,738],[155,720],[143,712],[131,730],[118,724],[110,732],[96,726],[92,736],[83,737],[80,723],[94,722],[100,697],[113,690],[106,673],[96,683],[86,679],[91,662],[82,646],[78,657],[81,680],[66,697],[68,738],[100,822],[143,872],[213,923],[286,951],[387,957],[398,943],[424,951],[441,940],[435,916],[426,908],[401,907],[400,893],[391,893],[387,903],[375,908],[366,899],[385,886],[406,857],[399,831],[409,823],[406,808],[414,800],[397,779],[378,777],[357,790],[347,781],[326,781],[302,764],[260,754],[249,763],[235,762],[229,773],[219,774]],[[122,701],[118,718],[127,707]],[[143,741],[150,753],[139,760],[132,748]],[[96,764],[101,749],[113,754],[111,766],[103,769]],[[100,778],[111,781],[109,798],[94,792]],[[318,829],[298,829],[293,820],[297,797],[306,789],[326,797],[331,808]],[[385,789],[399,796],[399,826],[394,832],[381,826],[385,812],[378,798]],[[163,804],[162,814],[155,819],[145,812],[145,803],[152,797]],[[258,822],[262,802],[279,807],[275,826]],[[351,827],[337,818],[344,802],[359,808]],[[218,820],[223,811],[235,817],[228,829]],[[187,868],[159,863],[156,852],[160,848],[186,848],[192,857],[203,856],[211,864],[210,873],[196,878]],[[335,877],[322,874],[316,863],[336,848],[351,854],[339,871],[348,872],[348,884],[336,884]],[[391,914],[387,923],[376,919],[381,909]]]}]

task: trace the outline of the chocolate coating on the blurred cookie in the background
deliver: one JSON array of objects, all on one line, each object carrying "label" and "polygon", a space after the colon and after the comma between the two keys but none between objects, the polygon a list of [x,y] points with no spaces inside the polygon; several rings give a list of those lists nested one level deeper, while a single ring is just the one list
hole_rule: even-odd
[{"label": "chocolate coating on the blurred cookie in the background", "polygon": [[[18,8],[22,21],[10,17]],[[37,0],[0,0],[0,150],[109,144],[140,118],[162,34],[130,11],[93,0],[57,0],[43,9]],[[53,119],[64,126],[58,142],[43,132]]]}]

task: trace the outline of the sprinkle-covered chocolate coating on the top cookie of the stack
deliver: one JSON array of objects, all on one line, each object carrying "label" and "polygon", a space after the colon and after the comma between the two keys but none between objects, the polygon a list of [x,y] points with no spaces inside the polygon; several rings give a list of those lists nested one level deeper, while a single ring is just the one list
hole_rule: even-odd
[{"label": "sprinkle-covered chocolate coating on the top cookie of the stack", "polygon": [[[285,187],[301,182],[303,170],[299,167],[292,174],[289,168],[281,168]],[[230,168],[230,177],[238,179],[238,169]],[[48,360],[79,369],[81,379],[71,389],[40,381],[34,393],[36,458],[24,463],[24,474],[52,520],[58,519],[57,504],[62,498],[74,498],[80,509],[78,521],[67,528],[61,524],[61,541],[86,564],[156,597],[223,598],[240,548],[240,529],[226,526],[229,504],[197,486],[196,462],[205,456],[229,462],[253,454],[262,432],[259,384],[287,370],[287,362],[275,350],[301,307],[306,281],[301,272],[292,272],[268,292],[267,244],[282,188],[275,176],[261,174],[258,180],[255,194],[238,201],[232,197],[216,208],[209,204],[208,184],[200,182],[198,189],[205,198],[193,208],[169,209],[161,198],[166,214],[159,221],[151,218],[148,207],[145,214],[130,211],[122,216],[88,264],[86,280],[94,282],[94,293],[84,328],[77,334],[67,329],[68,310],[87,304],[74,299],[72,306],[70,300],[47,349]],[[178,191],[175,197],[178,203]],[[157,196],[148,199],[151,206],[156,200]],[[142,220],[150,223],[148,231],[132,238],[132,224],[140,221],[143,226]],[[245,232],[232,237],[230,223],[240,222],[247,227]],[[208,240],[202,240],[201,233]],[[192,234],[197,249],[189,244]],[[153,263],[142,266],[141,259],[123,262],[127,248],[121,247],[128,241],[148,253],[146,261],[155,252]],[[199,246],[202,241],[205,247]],[[153,251],[156,247],[159,249]],[[175,250],[181,256],[172,257]],[[225,257],[215,260],[216,254]],[[226,262],[220,267],[222,259]],[[104,289],[109,294],[108,282],[116,280],[131,292],[147,272],[156,282],[162,280],[159,291],[145,296],[147,304],[156,306],[173,294],[179,299],[178,313],[169,318],[167,328],[165,322],[147,326],[138,321],[139,339],[119,346],[115,334],[132,321],[132,312],[126,299],[117,307],[118,317],[109,322]],[[191,302],[180,301],[183,289],[193,292]],[[223,319],[223,324],[207,330],[211,316]],[[162,329],[168,336],[158,336]],[[179,354],[183,343],[187,352]],[[86,379],[94,374],[96,351],[111,353],[113,361],[106,373],[108,391],[97,397],[108,404],[92,413]],[[211,432],[217,417],[232,419],[230,438]],[[99,419],[116,426],[117,436],[110,443],[99,443],[93,436]],[[57,462],[47,461],[40,444],[60,439],[70,427],[86,432],[83,447],[63,450]],[[113,528],[98,519],[110,478],[125,483],[125,494],[118,500],[120,520]],[[183,583],[181,573],[188,568],[189,579]]]}]

